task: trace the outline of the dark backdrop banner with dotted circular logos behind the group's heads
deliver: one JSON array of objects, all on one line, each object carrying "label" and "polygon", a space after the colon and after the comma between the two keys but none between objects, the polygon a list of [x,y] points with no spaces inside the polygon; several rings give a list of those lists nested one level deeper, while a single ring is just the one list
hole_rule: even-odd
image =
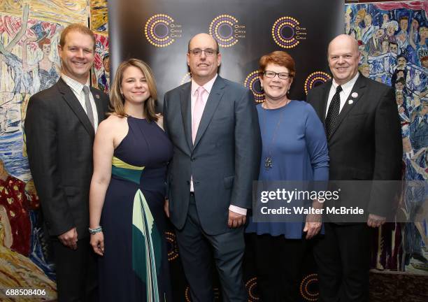
[{"label": "dark backdrop banner with dotted circular logos behind the group's heads", "polygon": [[159,103],[169,89],[190,80],[187,43],[195,34],[211,34],[220,45],[220,75],[264,96],[258,61],[273,50],[285,50],[296,61],[290,95],[304,100],[306,91],[325,80],[327,45],[343,33],[343,2],[331,1],[108,1],[110,62],[113,70],[136,57],[155,73]]}]

